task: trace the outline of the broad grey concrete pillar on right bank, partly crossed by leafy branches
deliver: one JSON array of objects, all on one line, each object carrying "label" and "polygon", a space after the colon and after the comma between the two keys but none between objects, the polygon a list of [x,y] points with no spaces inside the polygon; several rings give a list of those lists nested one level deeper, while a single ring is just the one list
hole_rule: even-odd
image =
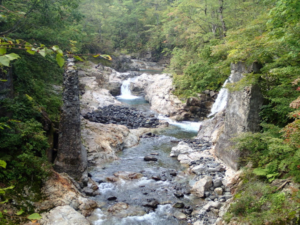
[{"label": "broad grey concrete pillar on right bank, partly crossed by leafy branches", "polygon": [[[231,64],[231,81],[237,82],[244,73],[258,72],[259,65],[253,63],[246,66],[244,62]],[[262,95],[258,85],[245,87],[243,90],[229,91],[224,118],[224,130],[215,145],[215,155],[227,165],[237,170],[241,152],[232,147],[230,138],[240,132],[259,131],[259,111]]]}]

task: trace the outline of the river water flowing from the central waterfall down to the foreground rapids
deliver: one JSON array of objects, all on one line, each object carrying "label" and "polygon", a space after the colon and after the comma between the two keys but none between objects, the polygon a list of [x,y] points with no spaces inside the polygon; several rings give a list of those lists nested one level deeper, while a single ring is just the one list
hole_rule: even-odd
[{"label": "river water flowing from the central waterfall down to the foreground rapids", "polygon": [[[124,81],[125,85],[127,81]],[[90,217],[93,224],[186,224],[185,220],[178,220],[173,213],[178,210],[172,204],[178,200],[187,207],[195,207],[202,201],[188,194],[189,182],[194,174],[185,174],[186,166],[181,165],[176,157],[170,157],[171,147],[176,146],[181,138],[193,138],[197,134],[200,123],[175,122],[167,117],[158,115],[150,110],[150,105],[141,97],[132,96],[127,87],[122,89],[122,95],[117,97],[124,105],[135,107],[147,114],[154,114],[160,119],[167,120],[170,125],[164,128],[151,130],[155,136],[140,138],[136,146],[125,148],[119,152],[119,159],[93,167],[90,170],[92,178],[100,183],[100,195],[94,197],[102,202],[102,207],[97,209]],[[144,156],[154,156],[157,161],[144,161]],[[109,182],[106,177],[113,176],[119,171],[138,172],[141,178],[127,180],[117,179]],[[170,172],[176,172],[171,176]],[[160,180],[151,177],[159,176]],[[173,193],[180,191],[185,193],[183,198],[177,198]],[[115,200],[107,200],[109,196]],[[147,199],[155,199],[159,202],[156,209],[142,206]],[[117,202],[124,202],[128,208],[117,212],[108,212],[109,208]],[[127,206],[126,206],[127,207]]]}]

